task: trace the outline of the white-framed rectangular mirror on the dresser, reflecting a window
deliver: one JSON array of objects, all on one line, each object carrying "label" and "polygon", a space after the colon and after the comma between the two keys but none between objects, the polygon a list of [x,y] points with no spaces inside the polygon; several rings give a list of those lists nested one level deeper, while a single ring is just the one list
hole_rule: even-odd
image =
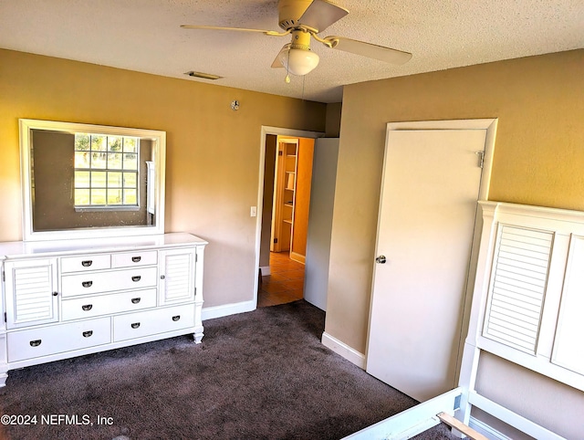
[{"label": "white-framed rectangular mirror on the dresser, reflecting a window", "polygon": [[166,132],[20,120],[25,241],[164,233]]}]

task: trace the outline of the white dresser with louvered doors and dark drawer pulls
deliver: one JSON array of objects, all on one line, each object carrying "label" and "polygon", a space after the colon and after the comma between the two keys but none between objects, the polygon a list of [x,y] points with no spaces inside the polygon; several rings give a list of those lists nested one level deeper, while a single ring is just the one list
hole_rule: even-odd
[{"label": "white dresser with louvered doors and dark drawer pulls", "polygon": [[0,243],[0,386],[7,372],[192,333],[203,251],[183,233]]}]

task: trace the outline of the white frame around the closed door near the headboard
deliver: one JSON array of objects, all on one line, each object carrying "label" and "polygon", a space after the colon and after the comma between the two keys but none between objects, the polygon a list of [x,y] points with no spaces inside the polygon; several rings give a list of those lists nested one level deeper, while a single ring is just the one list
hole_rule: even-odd
[{"label": "white frame around the closed door near the headboard", "polygon": [[[495,153],[495,137],[496,137],[496,127],[498,119],[474,119],[474,120],[421,120],[421,121],[406,121],[406,122],[388,122],[387,131],[385,137],[385,152],[383,155],[383,175],[381,176],[381,184],[385,178],[386,160],[387,160],[387,149],[390,139],[390,131],[422,131],[422,130],[485,130],[485,152],[483,154],[483,170],[481,172],[481,180],[479,183],[479,194],[478,200],[488,200],[489,186],[491,183],[491,171],[493,168],[493,157]],[[477,156],[477,161],[479,157]],[[380,211],[378,214],[377,222],[377,233],[376,233],[376,243],[375,243],[375,255],[379,255],[378,238],[380,234],[381,227],[381,198],[383,194],[380,194]],[[476,209],[478,210],[478,203],[476,204]],[[461,370],[462,363],[462,348],[464,347],[464,337],[466,331],[468,330],[468,324],[470,320],[470,308],[472,292],[474,287],[474,278],[476,277],[476,263],[478,258],[478,244],[481,237],[481,226],[482,219],[480,215],[474,216],[474,230],[471,246],[471,255],[468,262],[468,269],[466,275],[466,286],[464,288],[464,305],[463,305],[463,316],[461,317],[461,334],[459,351],[457,353],[456,368],[454,372],[454,377],[458,380]],[[374,264],[373,262],[371,264]],[[375,286],[375,270],[373,270],[373,280],[371,282],[370,298],[373,295],[373,288]],[[364,369],[367,370],[367,360],[369,358],[369,343],[370,343],[370,320],[372,314],[373,301],[370,301],[369,310],[369,322],[367,330],[367,346],[365,350],[365,366]],[[391,385],[391,384],[390,384]]]}]

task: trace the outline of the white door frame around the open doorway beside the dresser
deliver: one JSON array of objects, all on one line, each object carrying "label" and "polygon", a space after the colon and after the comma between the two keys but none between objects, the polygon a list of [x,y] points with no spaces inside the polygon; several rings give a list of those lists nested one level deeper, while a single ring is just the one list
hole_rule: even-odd
[{"label": "white door frame around the open doorway beside the dresser", "polygon": [[255,277],[254,277],[254,309],[257,308],[257,288],[259,288],[259,254],[262,240],[262,206],[264,204],[264,167],[266,166],[266,135],[274,134],[276,136],[290,136],[297,138],[318,139],[325,136],[324,131],[305,131],[286,129],[281,127],[270,127],[262,125],[261,138],[259,145],[259,173],[257,182],[257,217],[255,218]]}]

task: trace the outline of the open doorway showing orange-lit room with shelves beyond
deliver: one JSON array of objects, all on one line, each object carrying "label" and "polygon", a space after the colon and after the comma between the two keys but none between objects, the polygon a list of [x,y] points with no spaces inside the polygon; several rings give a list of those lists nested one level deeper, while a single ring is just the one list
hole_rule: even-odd
[{"label": "open doorway showing orange-lit room with shelves beyond", "polygon": [[314,140],[323,134],[262,128],[255,256],[258,307],[304,296],[312,155]]}]

